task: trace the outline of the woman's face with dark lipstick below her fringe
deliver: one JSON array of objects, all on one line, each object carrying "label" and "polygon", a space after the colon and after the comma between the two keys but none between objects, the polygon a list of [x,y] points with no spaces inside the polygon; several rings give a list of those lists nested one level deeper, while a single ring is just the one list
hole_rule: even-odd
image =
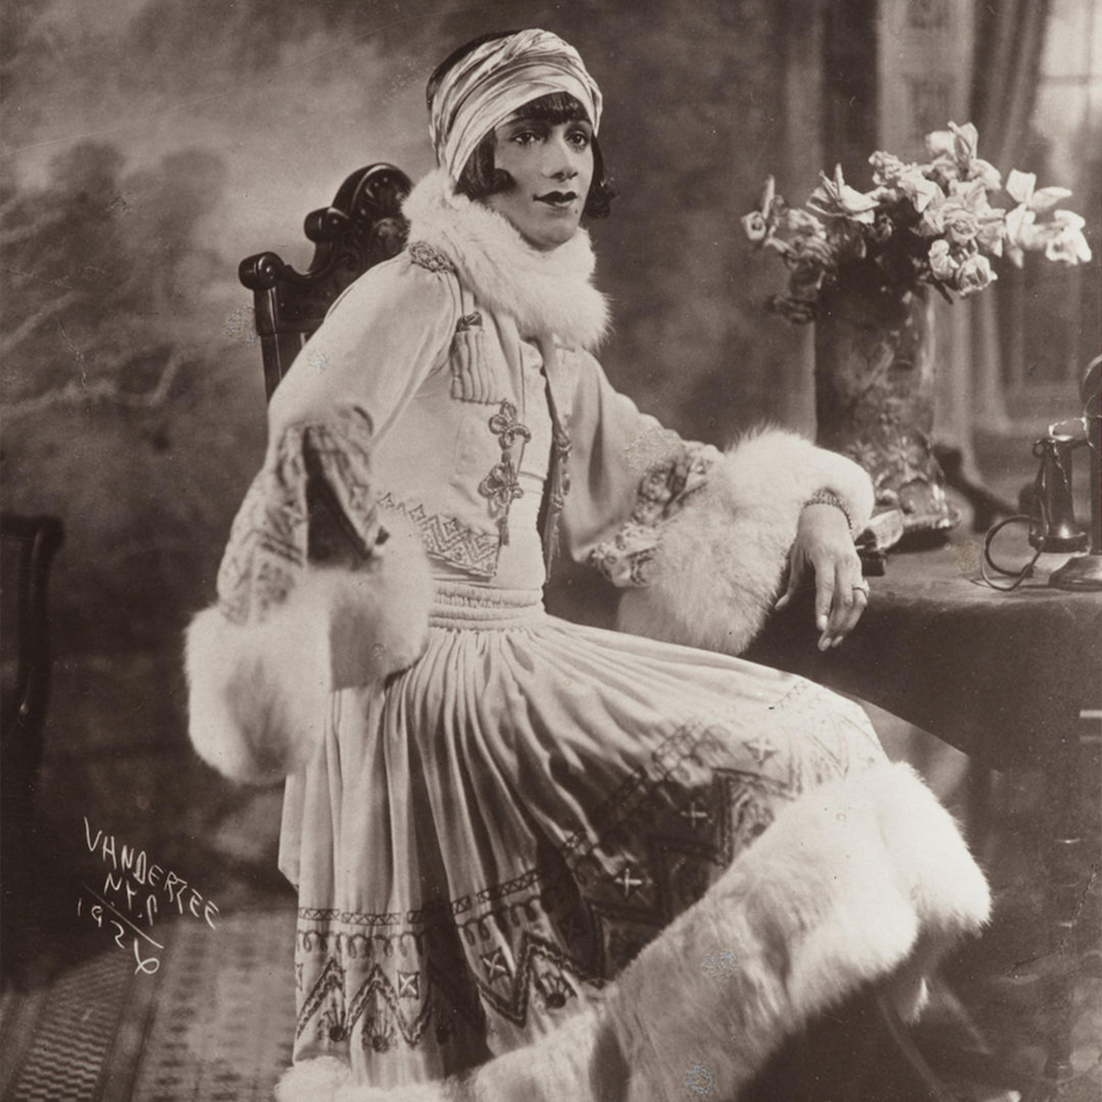
[{"label": "woman's face with dark lipstick below her fringe", "polygon": [[494,165],[514,179],[484,201],[537,249],[553,249],[577,229],[593,179],[593,127],[515,116],[494,128]]}]

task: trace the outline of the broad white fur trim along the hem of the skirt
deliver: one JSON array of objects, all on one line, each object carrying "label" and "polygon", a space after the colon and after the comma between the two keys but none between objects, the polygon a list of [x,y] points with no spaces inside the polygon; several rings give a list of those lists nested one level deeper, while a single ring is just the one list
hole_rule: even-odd
[{"label": "broad white fur trim along the hem of the skirt", "polygon": [[892,995],[987,920],[990,894],[948,812],[906,765],[806,792],[646,947],[603,1000],[460,1080],[383,1090],[333,1058],[279,1102],[668,1102],[736,1098],[786,1037],[868,984]]}]

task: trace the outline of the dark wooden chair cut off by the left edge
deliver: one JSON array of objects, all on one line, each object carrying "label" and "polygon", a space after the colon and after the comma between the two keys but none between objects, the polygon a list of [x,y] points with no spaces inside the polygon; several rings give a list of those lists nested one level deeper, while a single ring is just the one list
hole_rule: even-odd
[{"label": "dark wooden chair cut off by the left edge", "polygon": [[[50,698],[46,583],[64,534],[56,517],[0,517],[4,684],[0,698],[0,921],[3,983],[22,986],[32,876],[32,815]],[[11,653],[9,653],[11,652]],[[9,673],[11,674],[9,677]]]}]

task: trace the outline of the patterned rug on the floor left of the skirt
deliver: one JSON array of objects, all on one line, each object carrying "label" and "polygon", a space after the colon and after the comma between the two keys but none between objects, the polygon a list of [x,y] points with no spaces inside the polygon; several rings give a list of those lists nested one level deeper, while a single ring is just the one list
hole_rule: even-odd
[{"label": "patterned rug on the floor left of the skirt", "polygon": [[[0,1005],[7,1102],[268,1102],[291,1062],[294,911],[158,927],[160,964],[109,947]],[[150,952],[153,952],[150,947]],[[149,957],[145,958],[147,962]]]}]

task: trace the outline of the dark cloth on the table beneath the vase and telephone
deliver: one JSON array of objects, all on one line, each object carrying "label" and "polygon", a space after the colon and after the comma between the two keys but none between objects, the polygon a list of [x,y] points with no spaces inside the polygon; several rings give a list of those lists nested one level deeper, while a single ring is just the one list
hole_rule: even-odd
[{"label": "dark cloth on the table beneath the vase and telephone", "polygon": [[746,655],[851,693],[994,768],[1042,765],[1063,739],[1098,732],[1102,593],[1048,586],[1067,555],[1046,555],[1012,593],[982,582],[979,545],[900,552],[869,579],[868,608],[825,653],[811,595],[775,613]]}]

